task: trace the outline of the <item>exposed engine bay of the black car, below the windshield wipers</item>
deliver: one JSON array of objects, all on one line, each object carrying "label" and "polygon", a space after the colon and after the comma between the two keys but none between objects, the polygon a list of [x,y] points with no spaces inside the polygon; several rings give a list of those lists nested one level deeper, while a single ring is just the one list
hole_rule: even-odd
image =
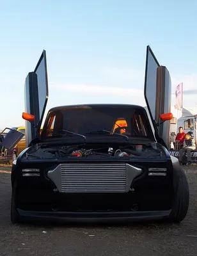
[{"label": "exposed engine bay of the black car, below the windshield wipers", "polygon": [[166,157],[164,150],[157,143],[149,145],[108,145],[108,143],[93,144],[83,143],[79,145],[54,146],[35,145],[29,148],[22,158],[28,159],[62,159],[62,158],[90,158],[90,157],[143,157],[160,158]]}]

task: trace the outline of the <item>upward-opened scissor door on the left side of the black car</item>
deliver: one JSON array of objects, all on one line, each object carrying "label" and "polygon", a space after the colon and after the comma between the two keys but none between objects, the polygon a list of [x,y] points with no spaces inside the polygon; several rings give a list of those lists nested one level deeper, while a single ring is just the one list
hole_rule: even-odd
[{"label": "upward-opened scissor door on the left side of the black car", "polygon": [[47,58],[43,50],[34,72],[29,72],[24,86],[25,111],[35,116],[34,123],[26,121],[26,147],[40,134],[49,96]]}]

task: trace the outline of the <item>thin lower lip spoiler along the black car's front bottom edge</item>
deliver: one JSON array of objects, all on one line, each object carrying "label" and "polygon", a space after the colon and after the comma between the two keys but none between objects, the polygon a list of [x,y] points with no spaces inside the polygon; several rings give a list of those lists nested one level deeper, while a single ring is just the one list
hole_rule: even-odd
[{"label": "thin lower lip spoiler along the black car's front bottom edge", "polygon": [[84,223],[114,223],[130,221],[162,220],[168,218],[169,211],[135,212],[40,212],[17,209],[22,221],[58,221]]}]

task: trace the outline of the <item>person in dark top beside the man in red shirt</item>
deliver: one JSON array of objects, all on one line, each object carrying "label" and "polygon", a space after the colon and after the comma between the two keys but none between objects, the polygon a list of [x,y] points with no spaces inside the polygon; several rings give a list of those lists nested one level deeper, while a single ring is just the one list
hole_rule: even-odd
[{"label": "person in dark top beside the man in red shirt", "polygon": [[195,141],[191,136],[186,133],[185,134],[185,140],[184,140],[184,146],[180,148],[179,150],[179,162],[182,163],[183,154],[186,151],[187,152],[187,163],[191,163],[191,150],[195,150],[196,145]]}]

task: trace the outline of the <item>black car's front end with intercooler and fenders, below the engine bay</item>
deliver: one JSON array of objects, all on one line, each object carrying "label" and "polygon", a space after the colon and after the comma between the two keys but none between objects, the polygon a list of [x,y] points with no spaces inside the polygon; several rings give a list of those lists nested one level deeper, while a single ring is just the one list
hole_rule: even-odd
[{"label": "black car's front end with intercooler and fenders, below the engine bay", "polygon": [[115,155],[106,146],[94,146],[93,151],[100,153],[94,154],[93,145],[87,144],[86,157],[74,156],[79,147],[72,147],[71,153],[68,147],[66,160],[49,159],[51,148],[47,147],[22,152],[12,167],[19,217],[63,221],[167,218],[175,191],[171,157],[165,148],[150,143],[143,145],[141,156],[135,156],[129,145],[122,149],[113,145],[118,150]]}]

